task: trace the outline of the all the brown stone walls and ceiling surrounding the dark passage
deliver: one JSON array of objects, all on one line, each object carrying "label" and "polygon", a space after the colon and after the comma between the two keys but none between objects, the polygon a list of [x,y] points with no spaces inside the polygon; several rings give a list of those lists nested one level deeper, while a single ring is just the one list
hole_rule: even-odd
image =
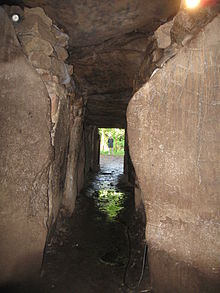
[{"label": "all the brown stone walls and ceiling surrounding the dark passage", "polygon": [[106,127],[146,218],[143,290],[220,292],[219,1],[1,3],[0,287],[45,276]]}]

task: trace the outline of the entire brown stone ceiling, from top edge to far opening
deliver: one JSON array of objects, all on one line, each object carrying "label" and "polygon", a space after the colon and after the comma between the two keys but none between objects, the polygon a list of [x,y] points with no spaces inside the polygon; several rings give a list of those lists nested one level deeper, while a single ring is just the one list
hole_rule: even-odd
[{"label": "entire brown stone ceiling, from top edge to far opening", "polygon": [[149,36],[180,5],[180,0],[6,2],[40,6],[68,33],[69,62],[88,96],[87,122],[103,127],[125,127],[133,80],[147,54]]}]

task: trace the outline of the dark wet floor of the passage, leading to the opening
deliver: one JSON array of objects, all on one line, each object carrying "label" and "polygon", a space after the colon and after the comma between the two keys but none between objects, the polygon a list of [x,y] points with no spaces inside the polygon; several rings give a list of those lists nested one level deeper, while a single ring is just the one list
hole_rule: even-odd
[{"label": "dark wet floor of the passage, leading to the opening", "polygon": [[43,292],[148,292],[144,226],[134,210],[133,188],[124,183],[123,157],[101,156],[100,167],[73,217],[61,217],[48,243]]}]

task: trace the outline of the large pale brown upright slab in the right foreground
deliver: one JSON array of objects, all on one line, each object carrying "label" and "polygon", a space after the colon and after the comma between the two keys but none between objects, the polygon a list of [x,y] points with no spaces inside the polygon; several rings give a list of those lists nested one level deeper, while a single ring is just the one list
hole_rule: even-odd
[{"label": "large pale brown upright slab in the right foreground", "polygon": [[218,16],[127,112],[155,292],[220,291],[219,27]]}]

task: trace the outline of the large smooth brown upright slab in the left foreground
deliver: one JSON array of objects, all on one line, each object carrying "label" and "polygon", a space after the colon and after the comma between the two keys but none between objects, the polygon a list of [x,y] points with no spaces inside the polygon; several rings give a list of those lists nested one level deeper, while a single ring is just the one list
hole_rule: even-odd
[{"label": "large smooth brown upright slab in the left foreground", "polygon": [[0,282],[39,272],[47,235],[47,90],[0,8]]}]

